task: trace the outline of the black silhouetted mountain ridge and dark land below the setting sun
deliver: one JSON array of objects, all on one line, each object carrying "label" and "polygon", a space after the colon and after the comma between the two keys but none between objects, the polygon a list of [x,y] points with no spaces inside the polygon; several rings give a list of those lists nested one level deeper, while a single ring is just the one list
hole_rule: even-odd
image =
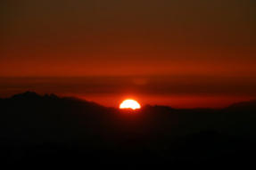
[{"label": "black silhouetted mountain ridge and dark land below the setting sun", "polygon": [[0,100],[0,161],[37,165],[253,165],[256,102],[139,111],[37,93]]}]

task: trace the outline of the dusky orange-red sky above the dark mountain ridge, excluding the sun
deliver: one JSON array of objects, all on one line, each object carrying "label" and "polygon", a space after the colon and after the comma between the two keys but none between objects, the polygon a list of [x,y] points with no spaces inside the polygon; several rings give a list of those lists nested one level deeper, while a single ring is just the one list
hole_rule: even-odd
[{"label": "dusky orange-red sky above the dark mountain ridge, excluding the sun", "polygon": [[0,97],[180,108],[256,97],[254,0],[2,0],[0,11]]}]

